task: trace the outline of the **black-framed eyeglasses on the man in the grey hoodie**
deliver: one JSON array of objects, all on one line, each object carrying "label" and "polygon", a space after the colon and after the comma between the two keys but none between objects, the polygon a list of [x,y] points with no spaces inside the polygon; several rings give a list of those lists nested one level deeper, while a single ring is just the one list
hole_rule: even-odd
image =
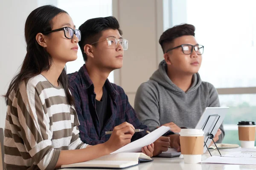
[{"label": "black-framed eyeglasses on the man in the grey hoodie", "polygon": [[172,51],[173,49],[180,48],[180,47],[182,48],[182,52],[184,54],[192,54],[193,49],[195,50],[196,54],[198,54],[198,55],[202,55],[204,53],[204,45],[198,45],[198,44],[197,45],[182,44],[177,47],[168,49],[166,51],[166,53],[168,53],[169,51]]}]

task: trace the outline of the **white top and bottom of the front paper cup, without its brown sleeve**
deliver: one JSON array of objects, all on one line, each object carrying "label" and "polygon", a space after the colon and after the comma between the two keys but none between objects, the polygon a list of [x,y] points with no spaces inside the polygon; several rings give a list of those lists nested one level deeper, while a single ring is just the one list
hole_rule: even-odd
[{"label": "white top and bottom of the front paper cup, without its brown sleeve", "polygon": [[[181,129],[180,136],[203,136],[204,131],[202,129]],[[204,145],[204,143],[202,143]],[[185,164],[197,164],[201,162],[202,155],[186,155],[184,156]]]}]

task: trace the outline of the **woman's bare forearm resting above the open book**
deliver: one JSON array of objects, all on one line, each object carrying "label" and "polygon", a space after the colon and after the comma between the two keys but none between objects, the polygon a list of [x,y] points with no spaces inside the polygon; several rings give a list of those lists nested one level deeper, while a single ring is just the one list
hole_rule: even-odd
[{"label": "woman's bare forearm resting above the open book", "polygon": [[63,164],[74,164],[78,162],[89,161],[110,154],[105,144],[97,144],[95,146],[87,146],[78,150],[61,150],[55,168],[61,167]]}]

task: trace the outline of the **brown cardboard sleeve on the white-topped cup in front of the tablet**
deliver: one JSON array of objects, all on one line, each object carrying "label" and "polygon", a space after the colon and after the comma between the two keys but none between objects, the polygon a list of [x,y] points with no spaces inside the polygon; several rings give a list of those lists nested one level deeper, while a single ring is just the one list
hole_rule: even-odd
[{"label": "brown cardboard sleeve on the white-topped cup in front of the tablet", "polygon": [[204,136],[180,136],[181,154],[201,155],[204,153]]}]

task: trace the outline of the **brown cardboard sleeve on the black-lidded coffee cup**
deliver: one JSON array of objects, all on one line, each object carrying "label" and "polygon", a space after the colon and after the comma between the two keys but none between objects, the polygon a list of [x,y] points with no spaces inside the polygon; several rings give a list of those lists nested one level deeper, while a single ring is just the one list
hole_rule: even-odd
[{"label": "brown cardboard sleeve on the black-lidded coffee cup", "polygon": [[254,141],[256,127],[238,127],[239,141]]}]

